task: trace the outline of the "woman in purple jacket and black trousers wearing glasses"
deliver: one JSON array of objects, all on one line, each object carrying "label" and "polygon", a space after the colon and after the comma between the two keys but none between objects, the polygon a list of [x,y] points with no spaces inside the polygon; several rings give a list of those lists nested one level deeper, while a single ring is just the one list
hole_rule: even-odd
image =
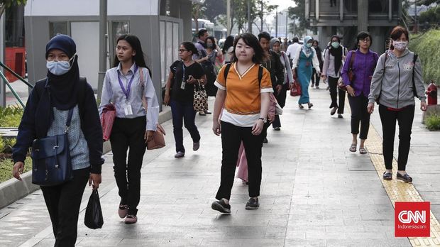
[{"label": "woman in purple jacket and black trousers wearing glasses", "polygon": [[[357,50],[348,53],[346,62],[341,72],[343,83],[346,85],[348,93],[348,103],[351,109],[351,141],[350,151],[356,152],[358,146],[359,123],[361,123],[361,145],[359,153],[365,154],[367,150],[363,146],[368,136],[370,128],[370,114],[367,111],[368,94],[370,94],[371,77],[378,63],[378,53],[370,50],[373,43],[370,33],[361,31],[356,37]],[[351,63],[351,57],[353,63]],[[348,77],[348,71],[352,70],[354,77],[352,80]]]}]

